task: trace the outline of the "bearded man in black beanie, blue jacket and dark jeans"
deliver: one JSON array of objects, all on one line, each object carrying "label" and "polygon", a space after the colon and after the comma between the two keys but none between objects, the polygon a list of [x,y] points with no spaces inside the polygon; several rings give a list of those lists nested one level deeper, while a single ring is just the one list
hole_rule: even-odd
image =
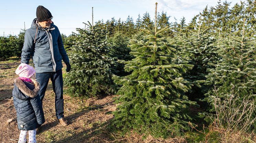
[{"label": "bearded man in black beanie, blue jacket and dark jeans", "polygon": [[69,72],[71,69],[69,58],[64,49],[59,29],[53,24],[53,16],[50,11],[39,5],[36,9],[36,17],[31,28],[25,32],[21,62],[28,64],[32,56],[36,79],[41,86],[38,95],[42,102],[49,79],[51,79],[55,92],[56,117],[61,125],[67,126],[69,123],[63,115],[63,78],[61,70],[63,66],[61,60],[63,59],[66,63],[66,71]]}]

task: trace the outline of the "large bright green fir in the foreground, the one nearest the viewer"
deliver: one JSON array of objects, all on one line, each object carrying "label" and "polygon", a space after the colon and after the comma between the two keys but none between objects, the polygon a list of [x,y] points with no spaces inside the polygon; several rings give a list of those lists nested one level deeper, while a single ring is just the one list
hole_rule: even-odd
[{"label": "large bright green fir in the foreground, the one nearest the viewer", "polygon": [[191,85],[181,73],[193,66],[172,62],[175,47],[163,36],[166,30],[157,29],[156,23],[154,29],[143,29],[146,39],[133,40],[130,54],[135,58],[125,65],[131,74],[113,77],[121,85],[114,124],[124,132],[134,129],[153,137],[168,137],[189,129],[191,118],[186,110],[196,103],[184,94]]}]

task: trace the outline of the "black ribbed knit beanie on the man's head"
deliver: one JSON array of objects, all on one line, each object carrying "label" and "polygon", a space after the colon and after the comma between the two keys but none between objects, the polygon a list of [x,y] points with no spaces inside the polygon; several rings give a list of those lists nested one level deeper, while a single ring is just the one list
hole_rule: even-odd
[{"label": "black ribbed knit beanie on the man's head", "polygon": [[49,10],[47,10],[44,6],[39,5],[36,8],[36,18],[38,20],[38,22],[43,22],[47,19],[50,19],[51,17],[53,17],[50,13]]}]

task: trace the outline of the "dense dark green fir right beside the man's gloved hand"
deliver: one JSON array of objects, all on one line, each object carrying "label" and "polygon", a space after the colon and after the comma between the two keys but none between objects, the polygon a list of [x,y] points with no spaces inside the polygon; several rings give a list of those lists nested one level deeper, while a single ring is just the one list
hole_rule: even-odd
[{"label": "dense dark green fir right beside the man's gloved hand", "polygon": [[100,22],[85,25],[87,29],[77,28],[78,40],[71,48],[71,71],[64,80],[66,92],[83,97],[113,94],[116,86],[111,77],[116,72],[115,60],[107,56],[106,30],[101,29]]}]

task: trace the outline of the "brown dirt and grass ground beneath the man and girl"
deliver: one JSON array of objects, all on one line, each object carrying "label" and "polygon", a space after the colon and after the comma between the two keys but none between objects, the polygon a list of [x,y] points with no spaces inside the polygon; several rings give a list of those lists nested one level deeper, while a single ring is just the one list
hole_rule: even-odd
[{"label": "brown dirt and grass ground beneath the man and girl", "polygon": [[[2,67],[11,69],[0,69],[0,143],[16,143],[19,138],[19,129],[16,123],[16,111],[14,109],[12,97],[13,80],[17,77],[15,70],[20,64],[19,60],[12,63],[0,62]],[[3,66],[4,65],[4,66]],[[63,64],[65,66],[65,64]],[[65,68],[63,68],[65,69]],[[63,73],[66,71],[63,70]],[[49,82],[43,110],[46,122],[42,125],[40,133],[36,135],[38,143],[86,143],[86,142],[186,142],[184,138],[175,139],[154,139],[149,136],[142,139],[142,135],[131,132],[130,135],[120,135],[117,132],[109,132],[106,128],[113,118],[112,112],[116,105],[114,97],[79,99],[63,95],[65,117],[70,121],[70,125],[63,127],[55,116],[54,92],[51,82]],[[8,119],[13,121],[7,124]]]}]

